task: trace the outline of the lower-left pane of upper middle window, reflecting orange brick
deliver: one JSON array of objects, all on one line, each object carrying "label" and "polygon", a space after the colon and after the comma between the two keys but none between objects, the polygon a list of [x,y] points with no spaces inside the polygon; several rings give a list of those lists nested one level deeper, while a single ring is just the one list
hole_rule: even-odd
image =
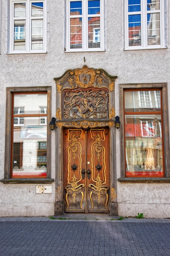
[{"label": "lower-left pane of upper middle window, reflecting orange brick", "polygon": [[70,48],[82,48],[82,18],[70,19]]}]

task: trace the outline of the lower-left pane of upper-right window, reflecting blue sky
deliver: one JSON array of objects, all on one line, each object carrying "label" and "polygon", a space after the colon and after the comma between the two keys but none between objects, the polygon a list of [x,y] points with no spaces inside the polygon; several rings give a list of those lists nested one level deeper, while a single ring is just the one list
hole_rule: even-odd
[{"label": "lower-left pane of upper-right window, reflecting blue sky", "polygon": [[129,46],[141,45],[141,15],[129,15]]}]

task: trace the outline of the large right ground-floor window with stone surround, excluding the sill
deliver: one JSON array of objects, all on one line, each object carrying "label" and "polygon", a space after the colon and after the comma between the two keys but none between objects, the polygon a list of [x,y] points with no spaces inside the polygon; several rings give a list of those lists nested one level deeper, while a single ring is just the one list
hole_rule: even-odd
[{"label": "large right ground-floor window with stone surround, excluding the sill", "polygon": [[165,85],[121,85],[125,177],[167,177],[165,158],[170,156],[165,91]]}]

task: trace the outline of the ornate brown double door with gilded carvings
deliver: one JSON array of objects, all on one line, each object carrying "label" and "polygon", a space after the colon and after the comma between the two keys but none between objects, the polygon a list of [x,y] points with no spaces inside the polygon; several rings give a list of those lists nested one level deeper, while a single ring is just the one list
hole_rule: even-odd
[{"label": "ornate brown double door with gilded carvings", "polygon": [[66,212],[109,212],[109,128],[63,131]]}]

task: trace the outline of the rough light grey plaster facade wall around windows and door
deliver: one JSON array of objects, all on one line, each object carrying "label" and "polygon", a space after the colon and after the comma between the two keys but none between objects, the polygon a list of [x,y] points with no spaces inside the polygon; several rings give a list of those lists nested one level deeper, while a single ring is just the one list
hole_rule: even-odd
[{"label": "rough light grey plaster facade wall around windows and door", "polygon": [[[124,0],[104,1],[104,45],[105,51],[98,52],[64,52],[66,12],[64,0],[47,0],[47,35],[46,53],[10,54],[9,0],[0,2],[0,180],[4,179],[5,165],[10,161],[7,157],[6,119],[7,88],[51,87],[51,117],[56,117],[60,107],[61,94],[58,92],[55,77],[61,77],[67,70],[82,68],[87,65],[93,69],[105,70],[115,79],[114,102],[115,115],[120,116],[120,85],[121,84],[167,84],[168,106],[170,104],[170,1],[165,1],[165,33],[166,47],[162,49],[124,50]],[[163,103],[164,104],[164,103]],[[166,135],[170,135],[170,111],[166,118]],[[112,215],[136,216],[144,213],[146,218],[170,217],[170,180],[118,180],[122,173],[122,144],[124,130],[114,129],[110,142],[111,152],[114,153],[111,178],[115,190]],[[0,182],[0,216],[53,216],[62,215],[63,184],[62,184],[62,139],[58,128],[50,131],[48,143],[51,147],[51,179],[50,184],[43,182]],[[166,166],[170,159],[169,148],[164,150]],[[61,162],[60,162],[61,161]],[[169,169],[169,167],[167,167]],[[114,173],[114,174],[113,174]],[[60,177],[61,175],[61,177]],[[58,181],[58,183],[57,183]],[[49,193],[37,193],[38,186],[47,186]],[[61,202],[60,202],[61,201]]]}]

